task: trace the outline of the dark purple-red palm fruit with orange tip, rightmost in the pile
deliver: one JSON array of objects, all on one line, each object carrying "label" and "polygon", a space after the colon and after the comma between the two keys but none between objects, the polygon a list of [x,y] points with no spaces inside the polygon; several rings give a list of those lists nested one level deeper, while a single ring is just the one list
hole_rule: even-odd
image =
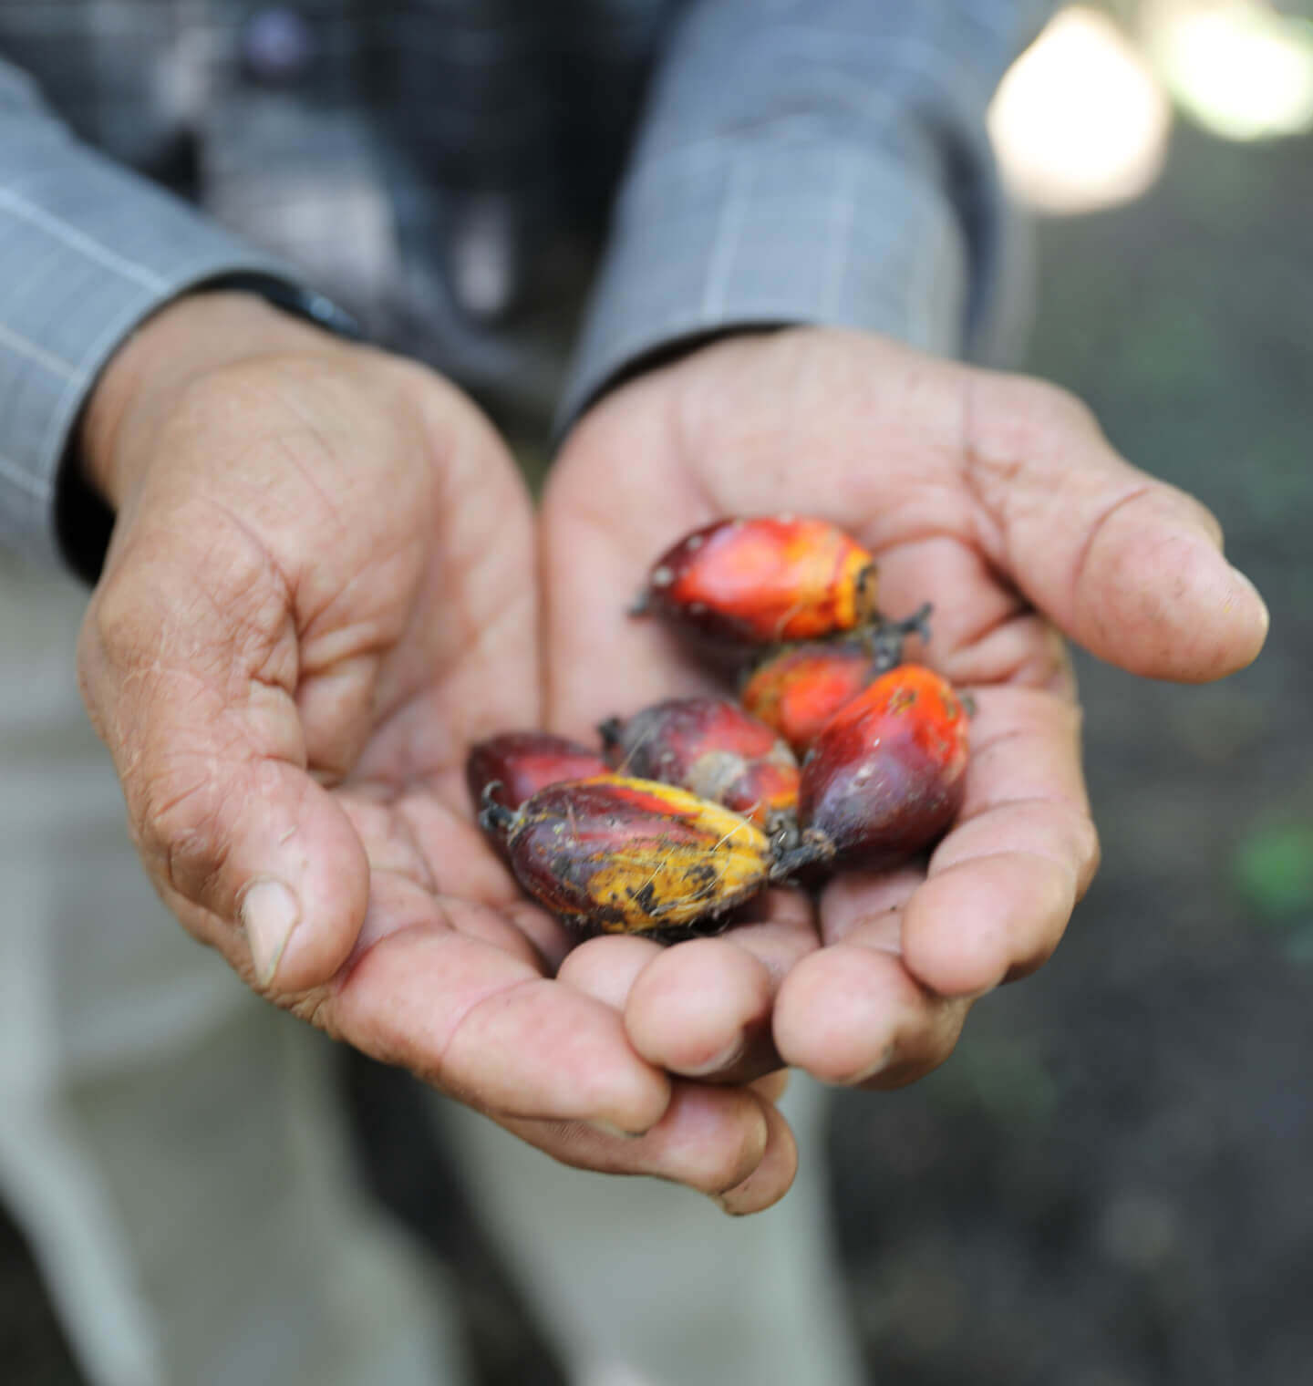
[{"label": "dark purple-red palm fruit with orange tip, rightmost in the pile", "polygon": [[932,669],[882,674],[803,761],[799,825],[839,862],[886,866],[930,845],[962,805],[966,708]]}]

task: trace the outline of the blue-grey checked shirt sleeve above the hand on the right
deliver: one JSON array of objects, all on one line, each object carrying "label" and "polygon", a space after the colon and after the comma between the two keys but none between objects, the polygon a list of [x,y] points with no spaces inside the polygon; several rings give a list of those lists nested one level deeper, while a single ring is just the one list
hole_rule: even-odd
[{"label": "blue-grey checked shirt sleeve above the hand on the right", "polygon": [[961,355],[997,277],[986,108],[1041,0],[700,0],[654,78],[560,423],[681,338],[825,323]]}]

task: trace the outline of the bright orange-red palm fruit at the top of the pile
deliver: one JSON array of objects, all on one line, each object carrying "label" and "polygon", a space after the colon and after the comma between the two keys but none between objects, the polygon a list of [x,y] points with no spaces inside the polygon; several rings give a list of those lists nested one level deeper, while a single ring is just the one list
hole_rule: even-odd
[{"label": "bright orange-red palm fruit at the top of the pile", "polygon": [[713,642],[772,644],[850,631],[875,615],[875,561],[825,520],[717,520],[656,561],[634,611]]}]

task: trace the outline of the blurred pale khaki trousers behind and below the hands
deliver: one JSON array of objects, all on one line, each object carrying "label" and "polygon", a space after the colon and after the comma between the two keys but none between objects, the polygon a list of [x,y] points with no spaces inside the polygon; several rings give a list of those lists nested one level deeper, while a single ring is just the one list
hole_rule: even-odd
[{"label": "blurred pale khaki trousers behind and below the hands", "polygon": [[[137,865],[73,679],[86,602],[0,560],[0,1196],[94,1386],[460,1386],[448,1278],[360,1192],[329,1042],[194,944]],[[553,1164],[434,1099],[467,1198],[586,1386],[855,1386],[824,1098],[742,1222]]]}]

